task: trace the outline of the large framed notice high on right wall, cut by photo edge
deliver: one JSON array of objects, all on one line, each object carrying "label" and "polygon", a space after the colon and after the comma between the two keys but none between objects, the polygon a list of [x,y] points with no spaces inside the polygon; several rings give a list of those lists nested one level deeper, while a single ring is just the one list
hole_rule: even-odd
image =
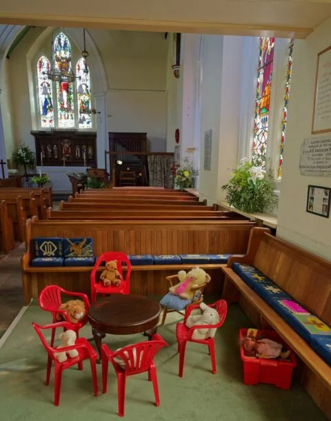
[{"label": "large framed notice high on right wall, cut by photo edge", "polygon": [[331,132],[331,45],[317,55],[312,134]]}]

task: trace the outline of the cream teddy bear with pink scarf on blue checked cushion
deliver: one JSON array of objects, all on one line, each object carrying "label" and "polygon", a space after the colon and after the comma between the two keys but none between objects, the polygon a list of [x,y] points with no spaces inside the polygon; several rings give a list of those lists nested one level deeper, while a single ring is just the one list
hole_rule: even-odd
[{"label": "cream teddy bear with pink scarf on blue checked cushion", "polygon": [[188,273],[184,270],[178,272],[179,283],[169,288],[171,294],[177,295],[184,300],[192,300],[195,291],[192,288],[210,282],[210,276],[199,266],[194,266]]}]

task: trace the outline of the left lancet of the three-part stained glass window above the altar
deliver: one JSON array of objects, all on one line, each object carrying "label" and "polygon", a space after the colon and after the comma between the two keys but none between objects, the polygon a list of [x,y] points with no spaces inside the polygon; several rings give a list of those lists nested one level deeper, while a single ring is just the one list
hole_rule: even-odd
[{"label": "left lancet of the three-part stained glass window above the altar", "polygon": [[41,56],[37,63],[39,115],[41,127],[54,127],[52,81],[43,74],[50,70],[50,61]]}]

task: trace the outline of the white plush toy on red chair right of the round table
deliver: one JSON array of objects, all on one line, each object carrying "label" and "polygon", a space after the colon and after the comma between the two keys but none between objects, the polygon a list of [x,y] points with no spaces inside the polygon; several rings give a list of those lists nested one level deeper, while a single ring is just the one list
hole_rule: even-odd
[{"label": "white plush toy on red chair right of the round table", "polygon": [[[216,325],[219,322],[219,314],[215,309],[209,307],[204,302],[201,302],[200,308],[203,314],[190,315],[186,320],[187,327],[193,327],[197,325]],[[194,329],[192,339],[201,340],[207,338],[214,338],[217,329]]]}]

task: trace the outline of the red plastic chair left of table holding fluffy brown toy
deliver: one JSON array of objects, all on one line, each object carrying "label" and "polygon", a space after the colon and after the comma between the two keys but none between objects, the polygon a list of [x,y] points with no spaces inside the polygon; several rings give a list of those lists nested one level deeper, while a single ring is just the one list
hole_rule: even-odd
[{"label": "red plastic chair left of table holding fluffy brown toy", "polygon": [[[77,297],[83,300],[83,302],[85,302],[86,314],[81,320],[79,320],[79,322],[72,323],[68,316],[68,313],[65,310],[59,310],[59,307],[62,304],[61,294],[64,294],[65,296]],[[81,292],[66,291],[66,289],[63,289],[58,285],[48,285],[48,287],[45,287],[39,294],[38,301],[39,307],[41,309],[45,311],[50,311],[52,313],[53,323],[59,322],[59,320],[57,320],[56,315],[61,313],[63,317],[66,318],[66,322],[70,323],[70,329],[76,332],[77,338],[79,337],[79,329],[86,325],[86,322],[88,321],[88,308],[90,307],[90,302],[88,301],[88,296],[86,296],[86,294],[83,294]],[[52,338],[50,341],[51,347],[54,344],[54,336],[55,329],[52,329]]]}]

